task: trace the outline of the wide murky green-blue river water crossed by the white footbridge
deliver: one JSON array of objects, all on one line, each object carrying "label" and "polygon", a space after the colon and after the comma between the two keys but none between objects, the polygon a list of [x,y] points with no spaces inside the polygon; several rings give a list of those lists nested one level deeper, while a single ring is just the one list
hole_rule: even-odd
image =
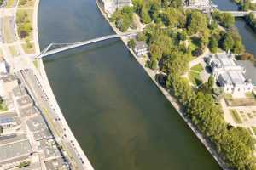
[{"label": "wide murky green-blue river water crossed by the white footbridge", "polygon": [[[113,33],[95,0],[41,1],[38,32],[42,49]],[[220,169],[120,40],[55,54],[44,65],[96,170]]]}]

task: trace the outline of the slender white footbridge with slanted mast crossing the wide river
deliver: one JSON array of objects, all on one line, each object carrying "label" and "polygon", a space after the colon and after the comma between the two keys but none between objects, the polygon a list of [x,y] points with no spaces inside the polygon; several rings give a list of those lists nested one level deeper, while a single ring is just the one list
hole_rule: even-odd
[{"label": "slender white footbridge with slanted mast crossing the wide river", "polygon": [[44,57],[47,57],[51,54],[57,54],[57,53],[61,53],[63,51],[67,51],[69,49],[79,48],[79,47],[82,47],[84,45],[88,45],[90,43],[102,42],[104,40],[118,38],[118,37],[134,37],[136,35],[137,35],[137,32],[129,32],[129,33],[124,33],[124,34],[113,34],[113,35],[108,35],[108,36],[103,36],[103,37],[96,37],[94,39],[86,40],[86,41],[83,41],[83,42],[50,43],[49,46],[44,48],[42,53],[39,54],[36,58],[44,58]]}]

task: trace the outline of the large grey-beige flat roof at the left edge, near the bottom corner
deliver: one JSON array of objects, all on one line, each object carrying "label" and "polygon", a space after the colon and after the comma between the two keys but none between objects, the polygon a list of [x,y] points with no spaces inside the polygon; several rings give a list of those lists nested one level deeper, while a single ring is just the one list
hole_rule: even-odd
[{"label": "large grey-beige flat roof at the left edge, near the bottom corner", "polygon": [[32,153],[32,147],[28,139],[12,144],[0,145],[0,150],[0,161],[15,159]]}]

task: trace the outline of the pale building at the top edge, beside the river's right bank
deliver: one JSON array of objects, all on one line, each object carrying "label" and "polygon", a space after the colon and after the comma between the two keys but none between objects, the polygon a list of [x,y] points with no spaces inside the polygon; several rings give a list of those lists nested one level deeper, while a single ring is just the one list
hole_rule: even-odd
[{"label": "pale building at the top edge, beside the river's right bank", "polygon": [[131,0],[99,0],[99,4],[108,15],[113,14],[119,8],[132,5]]}]

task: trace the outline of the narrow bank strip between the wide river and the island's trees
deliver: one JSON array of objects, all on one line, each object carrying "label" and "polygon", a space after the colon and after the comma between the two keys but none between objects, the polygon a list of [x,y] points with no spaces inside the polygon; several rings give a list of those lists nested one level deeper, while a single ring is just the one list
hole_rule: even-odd
[{"label": "narrow bank strip between the wide river and the island's trees", "polygon": [[[97,7],[101,11],[103,17],[108,21],[109,25],[113,28],[113,31],[115,31],[117,34],[120,34],[121,32],[108,20],[108,15],[102,10],[101,6],[99,5],[98,1],[96,0]],[[183,121],[188,124],[190,129],[195,133],[198,139],[201,140],[201,143],[205,145],[207,150],[211,153],[213,158],[218,162],[218,165],[222,167],[224,170],[228,170],[229,168],[225,165],[224,161],[221,159],[220,156],[218,156],[218,153],[212,149],[211,144],[207,141],[207,139],[204,138],[203,134],[193,125],[193,123],[186,118],[184,115],[184,112],[182,111],[181,105],[177,102],[177,99],[173,97],[165,88],[161,87],[158,82],[155,81],[155,75],[158,74],[158,71],[152,71],[149,68],[145,67],[145,60],[143,58],[138,58],[137,55],[133,52],[131,48],[128,47],[127,42],[128,40],[124,37],[121,38],[121,40],[124,42],[126,48],[129,49],[131,54],[134,56],[135,59],[137,59],[137,62],[143,67],[144,71],[147,72],[148,76],[152,79],[154,84],[160,89],[161,93],[166,96],[166,99],[169,100],[169,102],[172,104],[172,106],[177,110],[180,116],[182,116]]]}]

